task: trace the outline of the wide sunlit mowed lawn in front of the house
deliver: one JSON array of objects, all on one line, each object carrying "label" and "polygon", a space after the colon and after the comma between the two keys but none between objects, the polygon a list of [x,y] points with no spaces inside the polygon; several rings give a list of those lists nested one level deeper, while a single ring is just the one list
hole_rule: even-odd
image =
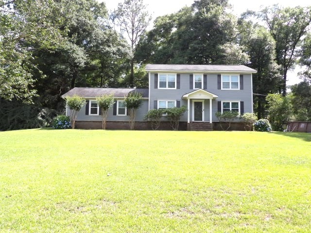
[{"label": "wide sunlit mowed lawn in front of the house", "polygon": [[0,232],[311,232],[311,134],[0,132]]}]

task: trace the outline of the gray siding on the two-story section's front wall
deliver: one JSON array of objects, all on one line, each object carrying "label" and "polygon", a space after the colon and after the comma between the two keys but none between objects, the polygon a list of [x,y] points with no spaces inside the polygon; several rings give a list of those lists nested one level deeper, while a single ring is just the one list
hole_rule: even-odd
[{"label": "gray siding on the two-story section's front wall", "polygon": [[[167,73],[167,72],[163,72]],[[180,73],[180,89],[155,89],[155,73],[150,73],[150,109],[154,109],[154,100],[180,100],[180,106],[187,106],[187,100],[181,100],[182,96],[193,91],[190,89],[190,74]],[[219,73],[218,73],[219,74]],[[218,111],[217,101],[244,101],[244,113],[252,112],[252,82],[251,74],[243,74],[243,90],[219,90],[217,89],[217,73],[207,74],[207,91],[218,96],[212,100],[212,121],[218,121],[215,113]],[[235,73],[231,73],[235,74]],[[240,74],[240,73],[236,73]],[[204,120],[209,121],[209,100],[205,100]],[[187,121],[188,113],[185,112],[181,121]],[[190,100],[190,121],[192,121],[192,100]]]}]

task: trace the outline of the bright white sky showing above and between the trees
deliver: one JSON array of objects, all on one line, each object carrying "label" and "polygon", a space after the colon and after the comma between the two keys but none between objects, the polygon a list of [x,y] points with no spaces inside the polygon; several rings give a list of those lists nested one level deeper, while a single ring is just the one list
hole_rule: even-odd
[{"label": "bright white sky showing above and between the trees", "polygon": [[[117,8],[119,2],[123,0],[99,0],[104,1],[108,12]],[[194,0],[144,0],[147,4],[147,10],[152,14],[153,19],[158,16],[163,16],[177,12],[184,6],[190,6]],[[273,4],[279,4],[280,6],[308,6],[311,5],[309,0],[229,0],[229,3],[233,6],[233,14],[239,16],[246,10],[258,11],[260,8],[271,6]],[[152,20],[153,21],[153,20]],[[150,29],[149,29],[150,30]],[[297,77],[296,73],[301,70],[300,67],[296,67],[294,71],[288,74],[287,85],[293,85],[299,83],[301,80]]]}]

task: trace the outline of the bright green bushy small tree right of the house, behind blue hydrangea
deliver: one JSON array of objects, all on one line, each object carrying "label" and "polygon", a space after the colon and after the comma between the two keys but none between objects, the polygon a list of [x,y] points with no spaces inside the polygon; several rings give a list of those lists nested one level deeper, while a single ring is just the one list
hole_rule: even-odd
[{"label": "bright green bushy small tree right of the house, behind blue hydrangea", "polygon": [[274,131],[283,131],[287,123],[293,120],[292,96],[283,97],[280,94],[269,94],[266,98],[269,107],[268,119]]}]

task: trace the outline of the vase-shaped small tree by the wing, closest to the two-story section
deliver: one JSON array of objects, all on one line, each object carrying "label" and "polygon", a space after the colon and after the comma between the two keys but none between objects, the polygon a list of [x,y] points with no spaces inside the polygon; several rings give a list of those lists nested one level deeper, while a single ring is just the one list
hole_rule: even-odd
[{"label": "vase-shaped small tree by the wing, closest to the two-story section", "polygon": [[129,115],[129,124],[131,130],[134,129],[136,109],[138,109],[142,104],[141,97],[142,95],[140,93],[134,92],[128,94],[124,100]]}]

